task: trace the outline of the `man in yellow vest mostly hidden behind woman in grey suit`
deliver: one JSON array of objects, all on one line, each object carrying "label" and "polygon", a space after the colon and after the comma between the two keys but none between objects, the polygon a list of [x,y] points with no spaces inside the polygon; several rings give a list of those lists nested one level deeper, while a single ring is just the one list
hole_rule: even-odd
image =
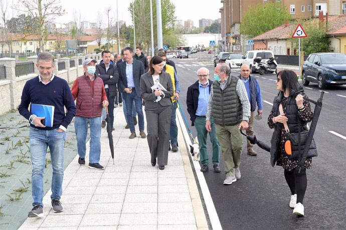
[{"label": "man in yellow vest mostly hidden behind woman in grey suit", "polygon": [[170,79],[173,82],[173,96],[170,98],[172,101],[172,115],[170,117],[170,129],[169,129],[169,139],[170,144],[168,143],[168,149],[170,150],[170,145],[172,145],[172,151],[178,151],[178,126],[176,121],[176,111],[178,108],[179,94],[180,94],[180,83],[178,80],[177,72],[174,67],[166,64],[167,57],[164,51],[159,51],[158,56],[163,59],[163,71],[168,72],[170,75]]}]

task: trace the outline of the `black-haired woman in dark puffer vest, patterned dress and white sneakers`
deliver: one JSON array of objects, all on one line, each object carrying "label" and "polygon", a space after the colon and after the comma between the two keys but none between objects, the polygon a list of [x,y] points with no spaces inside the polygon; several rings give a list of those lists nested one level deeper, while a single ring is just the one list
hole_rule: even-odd
[{"label": "black-haired woman in dark puffer vest, patterned dress and white sneakers", "polygon": [[[298,166],[298,158],[290,159],[285,152],[284,144],[287,135],[284,122],[287,122],[290,133],[298,132],[298,120],[301,131],[307,130],[306,123],[312,119],[310,103],[303,99],[304,89],[299,85],[297,75],[292,70],[282,70],[277,74],[276,88],[278,96],[274,98],[273,108],[268,117],[268,125],[275,128],[271,139],[271,164],[284,168],[286,182],[291,190],[289,206],[294,208],[293,214],[304,215],[303,198],[307,185],[306,168],[311,168],[311,157],[307,157],[304,166]],[[279,111],[282,104],[283,113]],[[316,149],[309,149],[315,151]]]}]

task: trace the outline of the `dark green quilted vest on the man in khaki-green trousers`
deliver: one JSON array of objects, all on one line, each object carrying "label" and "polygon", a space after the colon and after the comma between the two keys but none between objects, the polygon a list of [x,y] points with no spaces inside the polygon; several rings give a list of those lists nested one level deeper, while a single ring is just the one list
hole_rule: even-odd
[{"label": "dark green quilted vest on the man in khaki-green trousers", "polygon": [[236,90],[238,80],[238,77],[231,75],[224,90],[214,80],[213,116],[216,124],[236,125],[243,120],[243,107]]}]

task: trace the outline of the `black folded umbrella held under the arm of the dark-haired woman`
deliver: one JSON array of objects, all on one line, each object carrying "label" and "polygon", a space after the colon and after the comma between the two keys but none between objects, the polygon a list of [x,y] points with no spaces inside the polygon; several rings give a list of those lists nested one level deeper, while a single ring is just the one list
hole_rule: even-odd
[{"label": "black folded umbrella held under the arm of the dark-haired woman", "polygon": [[312,116],[312,120],[311,120],[311,123],[310,123],[309,133],[307,134],[307,137],[306,137],[304,151],[303,151],[302,155],[299,156],[299,166],[301,166],[301,167],[304,165],[304,162],[305,162],[305,159],[306,159],[306,154],[307,154],[307,151],[309,150],[309,147],[310,147],[310,144],[311,144],[311,141],[312,141],[312,137],[313,137],[313,134],[314,134],[315,129],[316,129],[316,125],[317,125],[317,121],[318,121],[318,118],[319,118],[319,114],[321,113],[323,94],[324,94],[324,92],[321,91],[321,95],[317,99],[317,101],[309,99],[306,94],[304,95],[304,99],[305,100],[308,100],[308,101],[310,101],[310,102],[315,104],[315,109],[313,111],[313,116]]}]

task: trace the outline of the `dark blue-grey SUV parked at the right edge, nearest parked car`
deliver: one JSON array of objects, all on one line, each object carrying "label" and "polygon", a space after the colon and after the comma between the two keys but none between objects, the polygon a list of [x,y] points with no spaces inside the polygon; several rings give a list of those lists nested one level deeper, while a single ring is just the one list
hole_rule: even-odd
[{"label": "dark blue-grey SUV parked at the right edge, nearest parked car", "polygon": [[317,83],[320,89],[328,84],[346,84],[346,54],[311,53],[303,63],[301,82],[303,85]]}]

